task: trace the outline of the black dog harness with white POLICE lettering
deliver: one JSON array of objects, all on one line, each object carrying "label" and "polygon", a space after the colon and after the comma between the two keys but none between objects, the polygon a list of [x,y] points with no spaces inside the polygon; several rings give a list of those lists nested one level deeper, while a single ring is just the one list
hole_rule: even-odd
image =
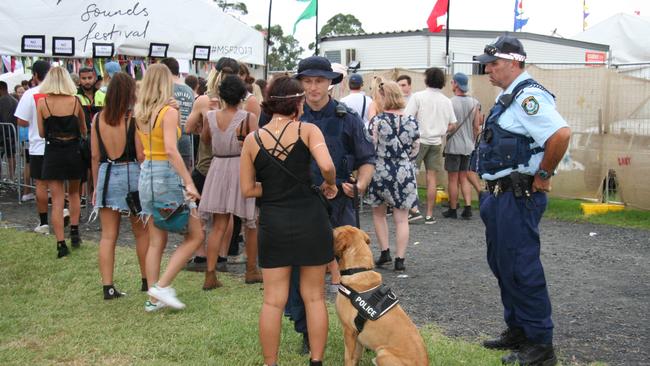
[{"label": "black dog harness with white POLICE lettering", "polygon": [[350,299],[352,306],[357,309],[354,326],[359,333],[363,331],[366,321],[381,318],[399,302],[395,293],[383,283],[363,292],[340,284],[339,292]]}]

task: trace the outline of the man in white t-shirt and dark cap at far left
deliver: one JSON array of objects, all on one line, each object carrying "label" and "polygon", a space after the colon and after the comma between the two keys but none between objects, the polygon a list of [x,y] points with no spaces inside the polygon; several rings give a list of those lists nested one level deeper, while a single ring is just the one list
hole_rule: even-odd
[{"label": "man in white t-shirt and dark cap at far left", "polygon": [[36,184],[36,209],[40,218],[40,224],[34,231],[40,234],[49,234],[50,227],[47,223],[47,181],[41,180],[45,139],[38,134],[36,102],[44,97],[43,94],[39,94],[40,88],[38,85],[43,82],[48,71],[50,71],[48,62],[42,60],[34,62],[32,66],[32,82],[36,86],[25,91],[14,114],[19,126],[29,127],[29,169]]}]

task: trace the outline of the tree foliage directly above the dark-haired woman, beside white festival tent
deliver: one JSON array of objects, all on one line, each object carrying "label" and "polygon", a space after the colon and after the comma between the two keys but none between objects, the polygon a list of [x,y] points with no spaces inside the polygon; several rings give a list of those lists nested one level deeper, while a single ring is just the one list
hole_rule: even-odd
[{"label": "tree foliage directly above the dark-haired woman, beside white festival tent", "polygon": [[[255,29],[266,32],[266,28],[260,24],[256,25]],[[305,49],[300,47],[300,43],[292,35],[285,35],[282,27],[277,24],[271,26],[270,40],[267,60],[269,70],[293,70],[298,65],[300,55]]]}]

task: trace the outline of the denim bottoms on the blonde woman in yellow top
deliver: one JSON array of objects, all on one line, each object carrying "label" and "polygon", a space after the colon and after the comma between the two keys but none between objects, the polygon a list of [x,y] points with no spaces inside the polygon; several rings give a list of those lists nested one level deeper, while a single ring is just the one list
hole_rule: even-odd
[{"label": "denim bottoms on the blonde woman in yellow top", "polygon": [[[153,177],[153,179],[152,179]],[[151,183],[153,181],[153,193]],[[143,218],[153,215],[153,198],[157,202],[169,203],[172,206],[180,206],[184,201],[183,181],[176,173],[172,165],[164,160],[145,160],[140,165],[140,204],[142,205]],[[196,207],[193,202],[190,208]]]}]

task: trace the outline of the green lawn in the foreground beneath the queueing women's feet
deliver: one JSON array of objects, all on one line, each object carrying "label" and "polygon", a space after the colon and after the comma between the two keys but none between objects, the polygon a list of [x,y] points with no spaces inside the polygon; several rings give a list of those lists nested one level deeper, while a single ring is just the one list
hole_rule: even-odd
[{"label": "green lawn in the foreground beneath the queueing women's feet", "polygon": [[[257,319],[261,287],[222,275],[223,288],[200,289],[200,273],[174,282],[183,311],[147,314],[135,252],[116,250],[115,283],[128,296],[102,298],[97,245],[56,259],[54,238],[0,229],[1,365],[261,365]],[[343,364],[341,327],[330,304],[325,362]],[[421,329],[433,365],[500,365],[502,352],[447,338],[433,325]],[[283,321],[280,364],[305,365],[300,336]],[[372,352],[361,365],[371,365]]]}]

